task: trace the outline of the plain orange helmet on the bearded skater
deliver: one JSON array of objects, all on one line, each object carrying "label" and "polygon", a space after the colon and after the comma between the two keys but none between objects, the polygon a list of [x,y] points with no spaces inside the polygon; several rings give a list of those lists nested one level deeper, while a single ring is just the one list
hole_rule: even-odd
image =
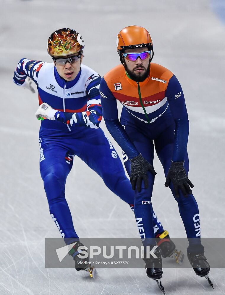
[{"label": "plain orange helmet on the bearded skater", "polygon": [[148,47],[148,50],[152,50],[152,57],[153,58],[153,44],[152,38],[149,32],[139,26],[129,26],[122,29],[116,38],[116,49],[120,56],[120,61],[123,64],[123,57],[122,53],[124,53],[125,49],[132,49],[132,48],[140,48],[140,47]]}]

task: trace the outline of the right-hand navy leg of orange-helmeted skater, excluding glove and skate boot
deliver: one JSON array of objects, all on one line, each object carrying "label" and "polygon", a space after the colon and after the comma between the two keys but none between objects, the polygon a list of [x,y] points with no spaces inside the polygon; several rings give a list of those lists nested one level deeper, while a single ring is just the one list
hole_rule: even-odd
[{"label": "right-hand navy leg of orange-helmeted skater, excluding glove and skate boot", "polygon": [[[166,176],[171,165],[171,158],[174,148],[174,125],[168,127],[161,133],[161,135],[157,139],[155,139],[155,148],[158,158],[163,165],[164,173]],[[186,173],[188,173],[189,161],[187,152],[184,161],[184,168],[186,170]],[[180,191],[180,197],[176,198],[174,194],[173,184],[171,183],[169,187],[175,200],[178,203],[179,213],[184,223],[187,237],[190,238],[189,243],[200,243],[199,211],[197,202],[193,194],[185,197]]]}]

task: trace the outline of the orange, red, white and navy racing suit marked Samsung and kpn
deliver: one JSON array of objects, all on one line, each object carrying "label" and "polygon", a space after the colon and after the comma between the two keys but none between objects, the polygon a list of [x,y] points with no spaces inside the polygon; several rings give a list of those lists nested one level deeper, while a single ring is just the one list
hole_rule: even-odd
[{"label": "orange, red, white and navy racing suit marked Samsung and kpn", "polygon": [[[110,70],[101,79],[101,104],[106,127],[124,151],[125,167],[130,174],[130,161],[139,155],[153,165],[154,148],[167,175],[171,159],[184,161],[188,173],[187,141],[189,121],[181,85],[171,71],[156,63],[143,82],[133,81],[123,65]],[[116,101],[122,105],[120,121]],[[154,141],[154,143],[153,143]],[[145,244],[154,237],[152,191],[155,176],[148,172],[148,188],[142,182],[135,190],[134,211],[140,237]],[[174,195],[174,187],[170,184]],[[175,196],[174,196],[175,197]],[[199,211],[193,194],[175,198],[188,238],[200,238]],[[141,226],[140,226],[141,224]],[[193,239],[199,243],[200,239]]]}]

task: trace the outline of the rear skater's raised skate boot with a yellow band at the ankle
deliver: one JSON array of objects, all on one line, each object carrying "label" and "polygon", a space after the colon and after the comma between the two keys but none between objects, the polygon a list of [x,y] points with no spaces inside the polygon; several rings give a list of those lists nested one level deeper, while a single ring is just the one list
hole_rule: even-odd
[{"label": "rear skater's raised skate boot with a yellow band at the ankle", "polygon": [[184,260],[184,253],[176,249],[174,242],[169,237],[169,232],[165,230],[161,234],[158,234],[156,238],[160,239],[157,242],[157,246],[159,247],[162,257],[175,258],[177,263],[182,264]]}]

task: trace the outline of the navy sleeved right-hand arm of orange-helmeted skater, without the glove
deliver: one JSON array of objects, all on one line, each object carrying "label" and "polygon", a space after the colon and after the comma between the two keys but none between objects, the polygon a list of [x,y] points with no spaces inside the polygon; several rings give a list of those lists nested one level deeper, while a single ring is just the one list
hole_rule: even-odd
[{"label": "navy sleeved right-hand arm of orange-helmeted skater, without the glove", "polygon": [[165,95],[168,99],[171,114],[176,124],[172,160],[174,162],[179,162],[184,160],[187,149],[189,121],[184,94],[179,81],[174,75],[169,80]]}]

